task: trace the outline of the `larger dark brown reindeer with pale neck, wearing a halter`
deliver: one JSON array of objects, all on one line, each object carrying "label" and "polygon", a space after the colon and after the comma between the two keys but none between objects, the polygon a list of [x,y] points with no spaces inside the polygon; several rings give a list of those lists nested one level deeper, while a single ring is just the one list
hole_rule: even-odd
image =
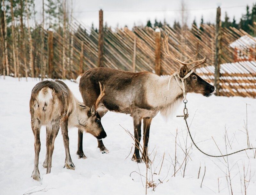
[{"label": "larger dark brown reindeer with pale neck, wearing a halter", "polygon": [[[215,91],[214,86],[192,71],[193,68],[205,63],[205,56],[201,60],[187,63],[197,56],[198,53],[196,51],[195,56],[181,62],[170,53],[168,37],[166,36],[164,37],[163,48],[165,56],[183,65],[180,71],[169,77],[162,78],[151,72],[134,73],[100,67],[86,71],[81,75],[79,81],[79,90],[84,104],[87,106],[94,104],[100,94],[100,88],[97,83],[105,84],[106,95],[100,100],[97,109],[100,117],[103,117],[108,110],[132,116],[134,138],[136,140],[132,160],[136,162],[142,162],[139,154],[142,119],[144,136],[142,158],[146,162],[148,159],[149,129],[152,119],[159,111],[163,116],[168,116],[176,111],[177,106],[182,102],[182,85],[184,85],[184,90],[187,93],[203,94],[206,97],[209,97]],[[198,64],[189,68],[188,65],[193,63]],[[83,134],[78,132],[77,154],[80,157],[83,156],[82,139]],[[102,140],[98,140],[98,147],[103,153],[108,152]]]}]

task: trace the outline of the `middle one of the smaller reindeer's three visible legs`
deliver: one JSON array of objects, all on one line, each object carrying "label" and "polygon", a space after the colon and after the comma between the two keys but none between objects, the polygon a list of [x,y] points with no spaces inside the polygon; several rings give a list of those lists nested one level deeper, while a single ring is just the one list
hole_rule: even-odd
[{"label": "middle one of the smaller reindeer's three visible legs", "polygon": [[53,121],[51,126],[48,126],[48,128],[51,129],[51,131],[48,132],[48,135],[47,135],[48,139],[46,140],[46,150],[48,154],[46,174],[51,172],[54,141],[60,129],[60,120]]}]

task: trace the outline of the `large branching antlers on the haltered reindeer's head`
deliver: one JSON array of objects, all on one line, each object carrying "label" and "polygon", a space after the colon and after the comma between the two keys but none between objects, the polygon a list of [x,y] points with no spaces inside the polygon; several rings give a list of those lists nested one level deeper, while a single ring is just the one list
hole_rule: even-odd
[{"label": "large branching antlers on the haltered reindeer's head", "polygon": [[[165,50],[165,47],[167,48],[167,51]],[[170,53],[169,51],[169,46],[168,46],[168,35],[165,36],[164,34],[164,42],[163,42],[163,50],[164,50],[164,55],[167,56],[167,57],[170,57],[171,59],[173,59],[175,62],[178,62],[180,63],[181,65],[185,66],[188,70],[192,70],[193,68],[195,68],[196,66],[199,66],[201,64],[204,64],[206,62],[206,56],[204,56],[204,58],[202,60],[196,60],[196,61],[193,61],[193,62],[189,62],[189,63],[186,63],[188,62],[189,60],[191,60],[192,58],[196,57],[198,52],[196,51],[196,55],[195,56],[192,56],[190,58],[188,58],[187,60],[185,61],[180,61],[178,59],[176,59],[175,57],[172,56],[172,54]],[[197,63],[197,62],[200,62],[199,64],[196,64],[195,66],[193,66],[192,68],[189,68],[188,65],[190,64],[194,64],[194,63]]]}]

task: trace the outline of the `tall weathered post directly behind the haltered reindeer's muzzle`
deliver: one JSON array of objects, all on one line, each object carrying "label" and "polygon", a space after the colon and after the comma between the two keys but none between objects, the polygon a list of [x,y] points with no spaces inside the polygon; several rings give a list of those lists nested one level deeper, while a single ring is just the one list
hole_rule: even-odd
[{"label": "tall weathered post directly behind the haltered reindeer's muzzle", "polygon": [[221,20],[220,20],[220,7],[217,8],[216,15],[216,33],[215,33],[215,56],[214,56],[214,86],[216,87],[216,95],[220,95],[220,58],[221,58]]}]

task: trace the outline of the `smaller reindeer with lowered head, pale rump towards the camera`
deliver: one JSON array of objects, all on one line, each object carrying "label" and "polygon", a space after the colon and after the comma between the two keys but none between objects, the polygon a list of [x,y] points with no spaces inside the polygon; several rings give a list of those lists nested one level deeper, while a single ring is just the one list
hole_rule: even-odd
[{"label": "smaller reindeer with lowered head, pale rump towards the camera", "polygon": [[107,136],[101,125],[100,115],[96,112],[103,95],[104,89],[102,91],[100,85],[97,103],[89,108],[79,102],[68,86],[60,80],[41,81],[34,86],[29,102],[31,127],[35,136],[35,166],[31,176],[33,179],[40,180],[38,159],[42,125],[46,125],[46,157],[43,164],[44,168],[47,168],[46,174],[51,172],[54,140],[60,127],[66,152],[64,167],[67,169],[75,169],[69,153],[68,127],[77,127],[81,133],[91,133],[98,140]]}]

